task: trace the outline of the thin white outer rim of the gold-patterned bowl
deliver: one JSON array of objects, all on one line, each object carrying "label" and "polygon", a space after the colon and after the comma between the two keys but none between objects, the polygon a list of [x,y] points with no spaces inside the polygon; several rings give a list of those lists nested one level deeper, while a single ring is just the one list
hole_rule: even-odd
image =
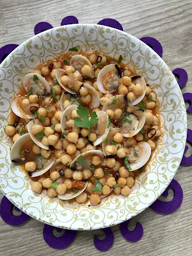
[{"label": "thin white outer rim of the gold-patterned bowl", "polygon": [[[155,52],[155,51],[154,51],[152,48],[150,48],[147,44],[145,44],[144,42],[142,42],[139,38],[136,38],[136,36],[133,36],[133,35],[131,35],[131,34],[125,32],[125,31],[122,31],[122,30],[120,30],[120,29],[116,29],[116,28],[113,28],[113,27],[104,26],[104,25],[100,25],[100,24],[92,24],[92,23],[68,24],[68,25],[57,26],[57,27],[54,27],[54,28],[51,28],[51,29],[47,29],[47,30],[45,30],[45,31],[43,31],[43,32],[41,32],[41,33],[38,33],[38,34],[36,34],[36,35],[34,35],[34,36],[31,36],[30,38],[28,38],[27,40],[25,40],[24,42],[22,42],[22,43],[21,43],[20,45],[18,45],[12,52],[10,52],[10,54],[12,54],[13,52],[17,51],[18,49],[20,49],[20,48],[22,47],[22,45],[26,44],[26,42],[28,42],[29,40],[33,40],[34,38],[36,38],[36,37],[39,36],[39,35],[45,35],[47,32],[49,33],[50,31],[54,31],[54,30],[56,31],[56,29],[59,29],[59,28],[66,28],[66,27],[68,28],[68,27],[76,27],[76,26],[90,26],[90,27],[97,26],[97,28],[98,28],[98,27],[103,27],[103,28],[106,28],[106,29],[109,28],[109,29],[113,29],[114,31],[119,31],[120,33],[122,33],[122,34],[124,34],[124,35],[131,36],[131,37],[134,38],[136,41],[139,40],[139,42],[141,42],[143,45],[147,46],[148,49],[150,49],[150,51],[152,51],[153,54],[156,54],[156,55],[160,58],[160,60],[163,61],[163,64],[166,65],[166,63],[164,62],[163,58],[161,58],[161,57],[157,54],[157,52]],[[63,53],[65,53],[65,52],[63,52]],[[8,60],[8,58],[10,57],[10,54],[8,54],[8,56],[6,56],[6,58],[1,62],[0,68],[1,68],[1,66],[3,66],[3,64],[5,63],[5,61]],[[77,54],[78,54],[78,52],[77,52]],[[55,56],[57,56],[57,55],[55,54]],[[167,67],[168,67],[168,65],[167,65]],[[168,67],[168,68],[169,68],[169,67]],[[170,70],[170,68],[169,68],[169,70]],[[172,73],[171,70],[170,70],[170,72]],[[175,81],[176,81],[177,90],[180,90],[179,84],[177,83],[177,80],[176,80],[176,79],[175,79]],[[182,97],[182,102],[184,103],[183,97]],[[184,142],[185,142],[185,144],[186,144],[188,127],[187,127],[187,113],[186,113],[186,106],[185,106],[185,104],[184,104],[184,109],[185,109],[184,121],[186,122],[186,133],[184,134],[184,136],[185,136]],[[183,148],[182,152],[180,152],[180,154],[182,154],[182,156],[183,156],[183,154],[184,154],[184,149],[185,149],[185,147]],[[180,166],[180,162],[181,162],[181,161],[182,161],[182,157],[180,158],[180,161],[179,161],[178,164],[177,164],[177,170],[176,170],[176,171],[173,173],[173,175],[172,175],[172,180],[173,180],[173,177],[175,176],[175,174],[177,173],[177,171],[178,171],[178,169],[179,169],[179,166]],[[172,180],[170,180],[169,184],[172,182]],[[168,185],[164,185],[163,189],[161,189],[161,193],[160,193],[159,196],[161,196],[161,195],[163,194],[163,192],[166,190],[166,188],[168,188],[169,184],[168,184]],[[1,188],[1,186],[0,186],[0,190],[1,190],[1,192],[3,193],[3,195],[6,196],[6,198],[8,198],[8,200],[10,200],[10,197],[7,196],[6,193],[4,193],[3,189]],[[157,198],[159,198],[159,196],[156,196],[154,202],[157,200]],[[21,208],[20,205],[16,205],[16,204],[13,202],[12,199],[10,200],[10,202],[12,202],[12,204],[15,205],[17,208],[19,208],[19,209]],[[146,207],[143,208],[143,209],[141,209],[141,211],[139,211],[139,212],[132,212],[132,216],[129,217],[129,218],[127,218],[127,219],[115,221],[115,223],[114,223],[113,225],[118,225],[118,224],[120,224],[120,223],[122,223],[122,222],[124,222],[124,221],[127,221],[127,220],[130,220],[131,218],[134,218],[134,216],[136,216],[136,215],[140,214],[141,212],[143,212],[145,209],[147,209],[148,207],[150,207],[150,205],[152,205],[154,202],[152,202],[152,203],[150,203],[150,204],[147,204]],[[22,209],[20,209],[20,211],[24,212]],[[113,211],[113,210],[111,210],[111,211]],[[45,222],[44,220],[42,220],[42,219],[40,219],[40,218],[36,218],[35,216],[31,215],[29,212],[24,212],[24,213],[25,213],[25,214],[28,214],[28,216],[30,216],[31,218],[34,218],[35,220],[41,221],[41,222],[44,223],[44,224],[51,225],[52,227],[60,227],[60,226],[58,226],[58,225],[56,224],[57,221],[56,221],[55,223],[47,223],[47,222]],[[113,225],[106,225],[106,227],[111,227],[111,226],[113,226]],[[91,228],[83,228],[83,230],[98,230],[98,229],[100,229],[100,228],[106,228],[106,227],[103,227],[103,225],[101,225],[101,223],[97,223],[96,227],[94,226],[94,227],[91,227]],[[62,228],[62,227],[60,227],[60,228]],[[65,227],[65,229],[68,229],[68,230],[79,230],[77,227]]]}]

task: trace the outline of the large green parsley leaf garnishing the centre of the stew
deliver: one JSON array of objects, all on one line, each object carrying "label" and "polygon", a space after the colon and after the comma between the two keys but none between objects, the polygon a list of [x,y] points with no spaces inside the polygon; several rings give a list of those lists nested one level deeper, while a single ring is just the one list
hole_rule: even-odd
[{"label": "large green parsley leaf garnishing the centre of the stew", "polygon": [[98,118],[97,113],[93,111],[91,118],[89,120],[89,111],[88,108],[84,108],[83,106],[79,105],[77,109],[77,114],[83,118],[83,120],[79,117],[74,117],[75,125],[77,127],[86,127],[89,130],[91,129],[93,124],[97,124]]}]

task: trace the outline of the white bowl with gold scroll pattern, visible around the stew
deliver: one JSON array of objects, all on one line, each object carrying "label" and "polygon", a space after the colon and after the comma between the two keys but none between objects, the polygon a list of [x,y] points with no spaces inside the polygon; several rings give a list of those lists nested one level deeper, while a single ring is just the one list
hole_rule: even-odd
[{"label": "white bowl with gold scroll pattern, visible around the stew", "polygon": [[[131,195],[110,196],[97,207],[51,200],[31,190],[31,180],[10,161],[11,141],[4,133],[10,102],[24,74],[36,65],[68,49],[98,51],[124,62],[145,78],[157,93],[163,134],[147,165],[136,179]],[[172,181],[184,154],[187,134],[186,108],[170,68],[148,45],[118,29],[94,24],[52,28],[19,45],[0,65],[0,183],[1,191],[17,207],[36,220],[72,230],[105,228],[129,220],[147,209]]]}]

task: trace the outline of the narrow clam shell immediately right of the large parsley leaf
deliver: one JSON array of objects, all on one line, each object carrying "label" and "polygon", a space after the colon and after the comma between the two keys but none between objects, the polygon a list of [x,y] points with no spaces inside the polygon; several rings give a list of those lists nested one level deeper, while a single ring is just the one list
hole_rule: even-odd
[{"label": "narrow clam shell immediately right of the large parsley leaf", "polygon": [[100,111],[96,111],[97,113],[97,118],[99,119],[98,123],[97,123],[97,126],[99,127],[99,125],[102,125],[102,124],[106,124],[106,128],[105,128],[105,131],[102,135],[100,135],[97,140],[93,141],[93,146],[97,146],[99,145],[100,143],[102,143],[102,141],[105,140],[106,136],[108,136],[108,133],[109,133],[109,129],[110,127],[108,127],[108,114],[106,114],[106,112],[100,110]]}]

